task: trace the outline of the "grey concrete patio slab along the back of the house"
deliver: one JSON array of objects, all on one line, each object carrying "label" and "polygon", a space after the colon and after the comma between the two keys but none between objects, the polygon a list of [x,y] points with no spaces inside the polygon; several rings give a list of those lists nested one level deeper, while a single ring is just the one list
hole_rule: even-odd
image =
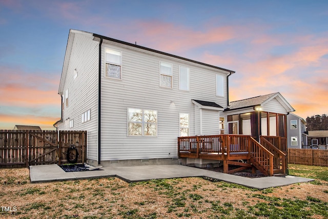
[{"label": "grey concrete patio slab along the back of the house", "polygon": [[247,178],[227,173],[203,170],[182,165],[144,165],[128,167],[102,167],[103,170],[84,172],[65,172],[58,165],[30,166],[31,183],[78,180],[95,177],[118,177],[129,183],[162,178],[209,177],[218,181],[235,183],[249,188],[266,189],[295,183],[314,181],[297,176],[267,176]]}]

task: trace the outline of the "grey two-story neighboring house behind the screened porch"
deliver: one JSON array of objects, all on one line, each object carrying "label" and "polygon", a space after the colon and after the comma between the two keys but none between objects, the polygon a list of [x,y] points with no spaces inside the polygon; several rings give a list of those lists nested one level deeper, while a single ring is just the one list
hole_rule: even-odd
[{"label": "grey two-story neighboring house behind the screened porch", "polygon": [[288,148],[303,148],[308,143],[306,122],[303,118],[290,113],[287,115]]}]

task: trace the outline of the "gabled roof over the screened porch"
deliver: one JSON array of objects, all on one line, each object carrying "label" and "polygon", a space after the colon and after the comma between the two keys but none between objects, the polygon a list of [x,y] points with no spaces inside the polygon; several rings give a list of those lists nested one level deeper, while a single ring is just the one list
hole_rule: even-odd
[{"label": "gabled roof over the screened porch", "polygon": [[286,109],[287,112],[295,111],[295,109],[285,100],[285,98],[283,98],[283,96],[279,92],[230,102],[230,107],[225,111],[263,106],[266,103],[270,102],[273,98],[276,98],[277,101]]}]

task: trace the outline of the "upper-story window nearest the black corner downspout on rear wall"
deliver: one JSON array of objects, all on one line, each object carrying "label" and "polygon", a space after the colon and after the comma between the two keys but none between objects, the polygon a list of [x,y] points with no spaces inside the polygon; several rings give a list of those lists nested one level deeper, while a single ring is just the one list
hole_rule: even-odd
[{"label": "upper-story window nearest the black corner downspout on rear wall", "polygon": [[110,78],[122,78],[122,54],[121,52],[106,49],[106,73],[105,75]]}]

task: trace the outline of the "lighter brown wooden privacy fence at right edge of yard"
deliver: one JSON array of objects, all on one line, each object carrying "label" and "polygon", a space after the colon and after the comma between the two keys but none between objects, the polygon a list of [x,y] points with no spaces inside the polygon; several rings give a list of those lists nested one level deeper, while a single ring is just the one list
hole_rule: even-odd
[{"label": "lighter brown wooden privacy fence at right edge of yard", "polygon": [[328,167],[328,150],[290,148],[288,163]]}]

